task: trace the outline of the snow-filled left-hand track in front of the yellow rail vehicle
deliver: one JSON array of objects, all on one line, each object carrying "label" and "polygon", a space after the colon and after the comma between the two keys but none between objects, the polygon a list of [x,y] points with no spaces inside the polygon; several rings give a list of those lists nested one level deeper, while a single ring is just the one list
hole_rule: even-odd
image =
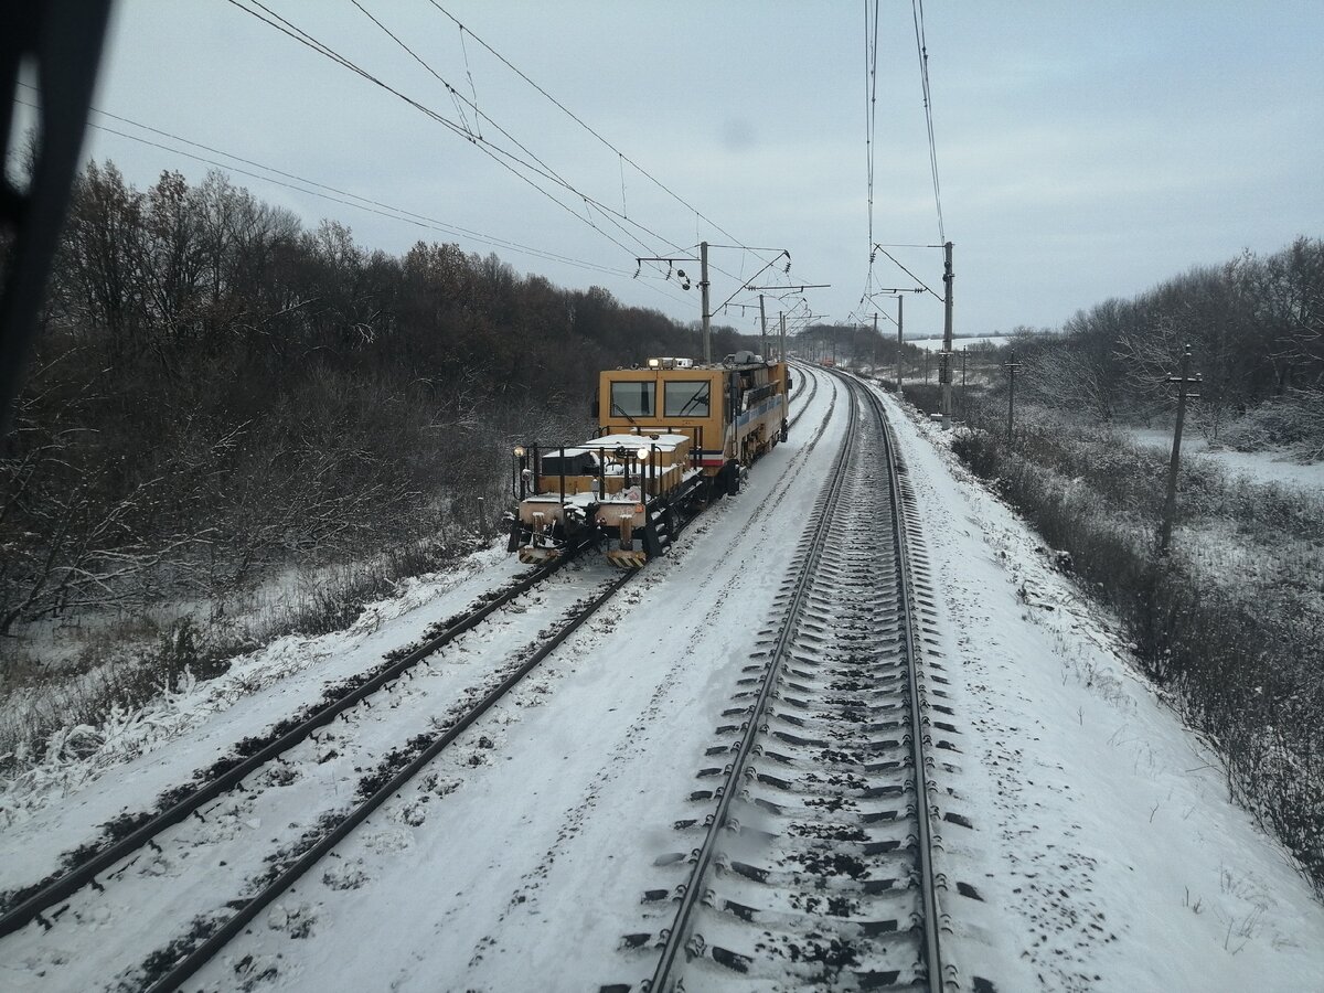
[{"label": "snow-filled left-hand track in front of the yellow rail vehicle", "polygon": [[[177,986],[633,575],[548,583],[556,571],[531,572],[311,714],[244,743],[245,757],[175,790],[159,813],[126,817],[118,841],[11,900],[0,956],[36,965],[46,989]],[[519,624],[493,617],[530,591],[514,608]],[[172,935],[181,922],[185,933]]]}]

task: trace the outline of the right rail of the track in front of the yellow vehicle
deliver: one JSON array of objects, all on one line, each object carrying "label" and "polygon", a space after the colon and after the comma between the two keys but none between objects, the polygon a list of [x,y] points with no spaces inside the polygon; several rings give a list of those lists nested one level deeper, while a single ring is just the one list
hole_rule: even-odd
[{"label": "right rail of the track in front of the yellow vehicle", "polygon": [[493,704],[500,700],[512,687],[515,687],[530,671],[534,670],[544,658],[547,658],[552,651],[555,651],[560,645],[583,625],[589,617],[597,613],[598,608],[602,606],[608,600],[610,600],[616,593],[629,583],[637,573],[625,572],[620,579],[614,580],[606,591],[604,591],[598,597],[596,597],[584,610],[581,610],[575,618],[572,618],[565,626],[561,628],[551,639],[543,643],[526,662],[523,662],[519,669],[511,673],[506,679],[500,682],[499,686],[493,688],[487,695],[485,695],[474,707],[461,718],[454,726],[451,726],[445,733],[442,733],[436,741],[433,741],[428,748],[420,752],[408,765],[405,765],[400,772],[391,777],[388,782],[380,786],[369,797],[365,797],[357,806],[355,806],[344,820],[339,821],[335,828],[327,831],[312,847],[305,851],[299,858],[287,866],[275,879],[262,887],[257,894],[249,896],[244,906],[240,907],[234,916],[225,922],[213,935],[211,935],[203,944],[188,952],[181,960],[179,960],[168,973],[147,986],[144,993],[171,993],[179,989],[180,984],[188,980],[193,973],[201,969],[208,961],[216,957],[230,939],[238,935],[253,919],[262,912],[267,904],[270,904],[277,896],[290,888],[299,876],[302,876],[308,869],[315,866],[322,858],[326,857],[336,845],[344,841],[346,837],[354,831],[360,824],[363,824],[373,810],[376,810],[381,804],[389,800],[395,793],[404,786],[409,780],[417,776],[424,768],[432,763],[441,752],[450,745],[459,735],[469,730],[469,727],[478,720],[483,714],[486,714]]}]

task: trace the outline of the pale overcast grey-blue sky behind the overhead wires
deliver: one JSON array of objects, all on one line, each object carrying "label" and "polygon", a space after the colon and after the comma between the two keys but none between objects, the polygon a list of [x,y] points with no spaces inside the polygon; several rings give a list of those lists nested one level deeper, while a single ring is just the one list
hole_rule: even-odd
[{"label": "pale overcast grey-blue sky behind the overhead wires", "polygon": [[[228,0],[117,0],[97,107],[575,263],[234,175],[307,226],[323,217],[347,224],[369,249],[457,241],[681,320],[698,319],[698,287],[663,279],[665,265],[632,278],[636,256],[690,256],[700,240],[786,249],[793,265],[780,282],[831,283],[805,293],[813,312],[829,322],[873,312],[861,305],[870,285],[865,11],[873,4],[359,0],[429,71],[352,0],[265,3],[462,130],[461,113],[471,124],[473,110],[432,73],[442,77],[487,117],[482,140]],[[959,334],[1057,326],[1192,265],[1324,236],[1320,0],[928,0],[924,15]],[[874,241],[939,242],[910,3],[879,4],[875,120]],[[105,117],[93,123],[187,148]],[[98,130],[87,151],[113,159],[140,188],[163,169],[191,180],[208,169]],[[500,164],[512,162],[507,154],[536,156],[572,189],[534,177],[553,201],[527,169],[516,167],[522,179]],[[628,230],[613,226],[612,212]],[[941,291],[939,250],[892,254]],[[756,303],[740,286],[773,256],[714,249],[714,305]],[[779,282],[777,273],[757,285]],[[915,283],[878,254],[871,285]],[[769,299],[769,311],[789,308],[786,299]],[[886,307],[895,312],[891,301]],[[906,316],[908,335],[941,330],[933,298],[907,301]],[[715,319],[753,331],[757,310]]]}]

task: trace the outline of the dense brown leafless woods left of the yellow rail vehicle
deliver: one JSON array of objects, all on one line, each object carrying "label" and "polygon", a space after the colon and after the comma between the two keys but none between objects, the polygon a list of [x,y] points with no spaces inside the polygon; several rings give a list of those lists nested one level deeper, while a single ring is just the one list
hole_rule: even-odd
[{"label": "dense brown leafless woods left of the yellow rail vehicle", "polygon": [[514,441],[577,438],[597,369],[696,344],[494,254],[91,163],[0,442],[0,634],[490,524]]}]

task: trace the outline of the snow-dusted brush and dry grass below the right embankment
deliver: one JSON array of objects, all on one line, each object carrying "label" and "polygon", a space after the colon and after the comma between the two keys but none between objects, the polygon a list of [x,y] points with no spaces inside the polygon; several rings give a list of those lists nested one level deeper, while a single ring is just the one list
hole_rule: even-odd
[{"label": "snow-dusted brush and dry grass below the right embankment", "polygon": [[1229,790],[1324,888],[1324,504],[1193,473],[1160,557],[1162,474],[1144,450],[1034,412],[1010,446],[976,418],[952,448],[1071,553],[1149,675],[1218,744]]}]

